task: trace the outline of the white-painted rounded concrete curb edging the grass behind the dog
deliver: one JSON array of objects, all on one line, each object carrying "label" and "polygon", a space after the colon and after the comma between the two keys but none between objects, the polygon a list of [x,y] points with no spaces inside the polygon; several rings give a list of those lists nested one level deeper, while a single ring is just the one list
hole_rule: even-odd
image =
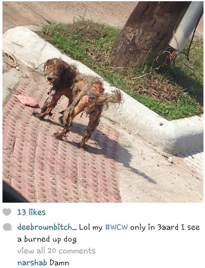
[{"label": "white-painted rounded concrete curb edging the grass behind the dog", "polygon": [[[42,71],[43,62],[56,57],[69,64],[75,64],[83,74],[99,77],[90,68],[62,54],[26,27],[18,26],[4,33],[3,49],[32,69],[39,67],[38,71]],[[107,92],[116,89],[106,81],[103,84]],[[140,136],[170,154],[203,147],[203,115],[167,121],[125,92],[121,92],[125,103],[117,110],[105,111],[104,115],[122,128],[126,128],[132,135]]]}]

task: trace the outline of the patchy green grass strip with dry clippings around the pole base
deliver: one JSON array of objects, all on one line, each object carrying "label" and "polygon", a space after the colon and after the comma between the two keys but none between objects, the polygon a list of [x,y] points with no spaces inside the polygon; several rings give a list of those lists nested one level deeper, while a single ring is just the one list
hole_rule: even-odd
[{"label": "patchy green grass strip with dry clippings around the pole base", "polygon": [[[82,19],[67,25],[44,25],[39,35],[168,120],[202,113],[203,95],[198,91],[203,88],[203,41],[192,44],[190,62],[182,54],[172,68],[154,69],[144,64],[140,70],[128,72],[112,67],[109,58],[119,33],[114,27]],[[195,70],[192,76],[188,76],[190,67]]]}]

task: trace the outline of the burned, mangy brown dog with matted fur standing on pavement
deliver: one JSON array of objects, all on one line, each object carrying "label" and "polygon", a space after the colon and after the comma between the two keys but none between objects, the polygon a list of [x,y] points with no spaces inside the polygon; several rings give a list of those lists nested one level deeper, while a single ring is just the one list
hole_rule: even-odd
[{"label": "burned, mangy brown dog with matted fur standing on pavement", "polygon": [[111,94],[104,93],[100,78],[80,74],[75,66],[65,63],[62,59],[47,60],[43,67],[43,74],[52,88],[48,92],[49,96],[44,102],[41,112],[33,112],[35,117],[43,120],[46,116],[52,116],[51,111],[61,96],[64,95],[69,99],[67,109],[62,111],[63,115],[59,117],[64,128],[61,133],[54,133],[57,139],[61,140],[63,136],[66,137],[71,130],[73,119],[85,111],[89,115],[89,123],[79,144],[80,147],[84,147],[99,125],[103,107],[108,108],[110,103],[122,103],[122,95],[119,90],[114,90]]}]

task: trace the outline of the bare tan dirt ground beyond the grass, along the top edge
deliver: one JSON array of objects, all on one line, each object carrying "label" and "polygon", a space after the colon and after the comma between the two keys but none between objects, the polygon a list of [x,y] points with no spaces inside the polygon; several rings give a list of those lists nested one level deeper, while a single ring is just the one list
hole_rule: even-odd
[{"label": "bare tan dirt ground beyond the grass, along the top edge", "polygon": [[[3,33],[21,25],[47,21],[69,23],[79,16],[122,28],[138,2],[3,2]],[[17,15],[18,14],[18,15]],[[14,19],[15,18],[15,19]]]}]

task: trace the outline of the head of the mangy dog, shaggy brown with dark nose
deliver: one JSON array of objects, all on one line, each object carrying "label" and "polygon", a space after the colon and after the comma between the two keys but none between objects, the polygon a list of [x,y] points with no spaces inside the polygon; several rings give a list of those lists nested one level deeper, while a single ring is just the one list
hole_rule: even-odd
[{"label": "head of the mangy dog, shaggy brown with dark nose", "polygon": [[43,74],[53,85],[69,84],[76,76],[76,67],[65,63],[62,59],[49,59],[44,64]]}]

